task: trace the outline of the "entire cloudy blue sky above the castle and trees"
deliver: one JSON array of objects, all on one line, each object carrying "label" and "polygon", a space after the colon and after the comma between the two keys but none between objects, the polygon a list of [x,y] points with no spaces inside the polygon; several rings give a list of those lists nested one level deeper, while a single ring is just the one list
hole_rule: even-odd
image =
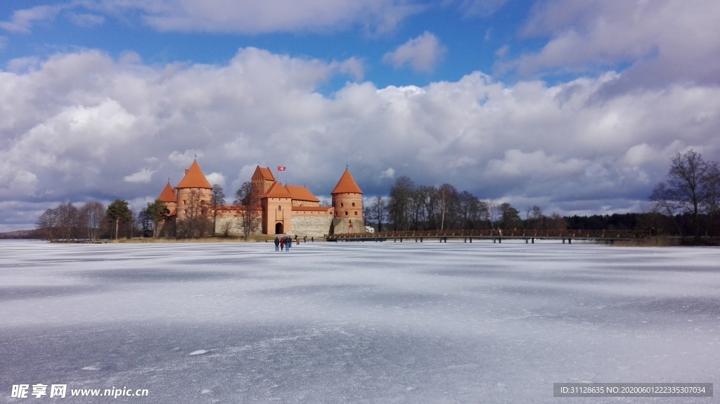
[{"label": "entire cloudy blue sky above the castle and trees", "polygon": [[[643,211],[670,157],[720,160],[716,0],[0,4],[0,231],[142,208],[197,161],[328,198],[451,183],[520,211]],[[230,198],[231,199],[231,198]]]}]

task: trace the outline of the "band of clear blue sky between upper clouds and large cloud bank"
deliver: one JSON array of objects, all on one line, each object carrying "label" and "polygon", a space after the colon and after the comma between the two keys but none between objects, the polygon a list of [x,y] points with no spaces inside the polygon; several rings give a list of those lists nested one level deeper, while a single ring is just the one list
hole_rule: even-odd
[{"label": "band of clear blue sky between upper clouds and large cloud bank", "polygon": [[[178,61],[224,64],[239,48],[258,47],[277,54],[328,62],[358,58],[364,63],[362,79],[376,86],[425,86],[438,80],[457,81],[474,70],[492,73],[496,54],[510,43],[513,48],[509,52],[537,50],[542,44],[536,38],[518,37],[518,30],[530,11],[523,1],[498,6],[492,14],[491,9],[473,12],[461,2],[416,3],[407,11],[408,16],[393,23],[392,28],[372,21],[377,17],[368,17],[370,21],[365,21],[360,15],[348,16],[350,22],[338,22],[337,26],[335,22],[332,25],[328,22],[329,26],[317,27],[308,22],[307,26],[275,27],[269,32],[250,27],[192,26],[158,31],[148,25],[147,14],[144,17],[137,14],[138,9],[106,15],[98,11],[99,5],[72,6],[63,1],[27,1],[19,5],[23,8],[10,9],[4,5],[6,23],[12,24],[13,19],[18,19],[17,12],[32,10],[32,6],[57,9],[36,10],[35,14],[45,14],[45,19],[38,17],[26,24],[16,22],[18,27],[9,29],[16,35],[6,37],[2,55],[5,62],[26,58],[28,52],[34,57],[47,58],[57,52],[88,48],[104,50],[115,58],[123,52],[135,52],[150,64]],[[398,60],[402,66],[398,68],[383,60],[387,52],[428,35],[436,38],[438,52],[436,57],[428,57],[427,63],[413,67],[410,62]],[[328,86],[327,91],[343,83],[338,81]]]}]

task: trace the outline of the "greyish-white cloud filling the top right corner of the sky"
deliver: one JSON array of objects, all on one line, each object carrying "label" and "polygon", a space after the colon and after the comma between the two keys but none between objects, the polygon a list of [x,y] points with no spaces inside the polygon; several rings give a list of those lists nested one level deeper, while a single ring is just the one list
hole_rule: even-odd
[{"label": "greyish-white cloud filling the top right corner of the sky", "polygon": [[720,7],[714,0],[553,0],[535,9],[525,35],[550,39],[509,65],[523,75],[595,71],[629,63],[624,86],[720,83]]}]

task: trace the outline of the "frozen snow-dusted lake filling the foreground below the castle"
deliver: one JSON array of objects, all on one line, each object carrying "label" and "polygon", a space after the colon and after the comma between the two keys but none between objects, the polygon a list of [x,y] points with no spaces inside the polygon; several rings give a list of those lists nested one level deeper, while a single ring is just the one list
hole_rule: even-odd
[{"label": "frozen snow-dusted lake filling the foreground below the castle", "polygon": [[[0,402],[717,402],[553,398],[553,383],[717,387],[720,249],[273,250],[0,242]],[[11,397],[39,383],[149,397]]]}]

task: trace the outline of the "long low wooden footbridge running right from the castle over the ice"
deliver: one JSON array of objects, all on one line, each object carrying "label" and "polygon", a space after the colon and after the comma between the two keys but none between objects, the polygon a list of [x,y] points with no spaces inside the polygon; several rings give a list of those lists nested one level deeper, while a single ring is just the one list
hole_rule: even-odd
[{"label": "long low wooden footbridge running right from the castle over the ice", "polygon": [[616,242],[621,240],[639,240],[651,237],[650,231],[642,230],[445,230],[445,231],[383,231],[379,233],[348,233],[333,234],[327,238],[328,242],[402,242],[415,240],[423,242],[425,239],[437,239],[447,242],[448,239],[462,239],[471,242],[473,239],[492,239],[492,242],[502,243],[507,239],[522,239],[526,243],[535,240],[562,240],[572,243],[572,240],[589,240],[600,242]]}]

